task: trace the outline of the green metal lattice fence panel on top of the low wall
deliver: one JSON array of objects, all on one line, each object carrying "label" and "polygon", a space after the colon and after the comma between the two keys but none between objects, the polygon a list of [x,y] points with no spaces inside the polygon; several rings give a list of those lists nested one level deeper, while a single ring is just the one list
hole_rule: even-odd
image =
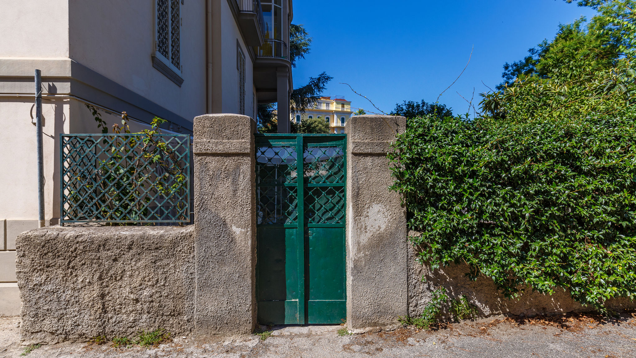
[{"label": "green metal lattice fence panel on top of the low wall", "polygon": [[60,224],[190,222],[190,136],[60,134]]}]

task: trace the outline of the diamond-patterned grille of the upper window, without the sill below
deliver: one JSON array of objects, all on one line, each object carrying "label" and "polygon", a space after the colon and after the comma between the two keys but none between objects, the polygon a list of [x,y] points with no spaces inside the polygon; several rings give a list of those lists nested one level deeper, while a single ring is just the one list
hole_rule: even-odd
[{"label": "diamond-patterned grille of the upper window, without the sill below", "polygon": [[181,71],[181,0],[156,0],[156,52]]}]

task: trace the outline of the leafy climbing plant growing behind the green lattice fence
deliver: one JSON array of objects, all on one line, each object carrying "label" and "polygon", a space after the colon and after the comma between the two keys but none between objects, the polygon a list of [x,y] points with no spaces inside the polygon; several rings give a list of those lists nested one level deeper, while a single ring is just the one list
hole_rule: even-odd
[{"label": "leafy climbing plant growing behind the green lattice fence", "polygon": [[[97,128],[101,129],[102,134],[107,134],[107,124],[101,118],[99,111],[90,104],[86,104],[86,108],[95,118]],[[106,190],[106,183],[114,183],[108,192],[111,200],[102,208],[104,215],[109,215],[112,220],[134,220],[141,215],[146,215],[148,213],[146,204],[150,201],[147,193],[162,194],[165,197],[174,196],[186,181],[186,173],[179,165],[176,154],[167,143],[156,136],[161,134],[159,126],[165,120],[155,117],[151,122],[151,129],[135,133],[130,132],[128,121],[127,113],[122,112],[121,125],[114,124],[113,133],[139,135],[133,136],[125,145],[122,141],[114,141],[110,150],[111,155],[108,159],[99,161],[97,168],[97,173],[102,179],[100,180],[101,190]],[[104,144],[106,143],[107,141],[104,140]],[[140,161],[140,157],[144,160]],[[162,169],[160,174],[157,168]],[[150,188],[147,187],[149,182],[152,183]],[[72,196],[73,194],[71,193]],[[133,206],[127,203],[128,197],[141,199]],[[114,210],[115,208],[118,210]]]}]

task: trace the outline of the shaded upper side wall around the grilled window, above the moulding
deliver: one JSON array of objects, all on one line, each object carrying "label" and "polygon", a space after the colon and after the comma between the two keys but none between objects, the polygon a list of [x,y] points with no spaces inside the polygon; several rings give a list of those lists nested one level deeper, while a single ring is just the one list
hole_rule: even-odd
[{"label": "shaded upper side wall around the grilled window, above the moulding", "polygon": [[205,113],[205,1],[181,6],[181,88],[153,68],[154,18],[154,0],[69,0],[69,57],[192,120]]}]

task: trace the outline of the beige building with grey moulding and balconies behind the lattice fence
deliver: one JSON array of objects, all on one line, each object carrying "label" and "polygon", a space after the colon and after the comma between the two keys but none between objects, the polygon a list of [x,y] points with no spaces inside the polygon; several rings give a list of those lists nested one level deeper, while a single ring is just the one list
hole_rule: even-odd
[{"label": "beige building with grey moulding and balconies behind the lattice fence", "polygon": [[157,116],[185,134],[205,113],[289,108],[291,0],[21,0],[0,13],[0,315],[20,307],[15,238],[38,226],[35,69],[47,226],[60,217],[60,133],[100,132],[86,104],[109,125],[126,111],[132,131]]}]

